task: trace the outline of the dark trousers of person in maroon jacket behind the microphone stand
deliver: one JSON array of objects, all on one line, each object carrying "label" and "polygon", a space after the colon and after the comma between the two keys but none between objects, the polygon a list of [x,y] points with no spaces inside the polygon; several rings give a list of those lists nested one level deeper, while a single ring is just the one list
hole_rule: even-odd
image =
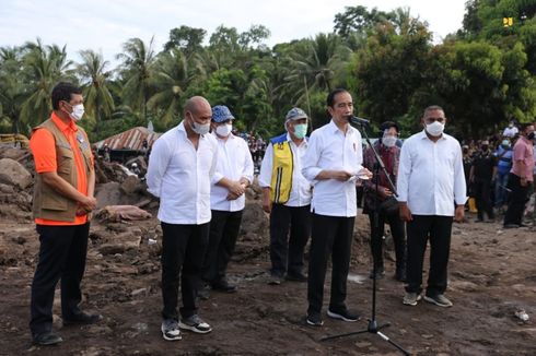
[{"label": "dark trousers of person in maroon jacket behind the microphone stand", "polygon": [[377,226],[374,223],[374,212],[369,213],[371,223],[371,252],[373,263],[376,269],[383,270],[383,236],[385,234],[385,223],[389,224],[393,244],[395,245],[396,273],[400,274],[406,270],[406,232],[404,222],[398,214],[385,215],[377,213]]}]

